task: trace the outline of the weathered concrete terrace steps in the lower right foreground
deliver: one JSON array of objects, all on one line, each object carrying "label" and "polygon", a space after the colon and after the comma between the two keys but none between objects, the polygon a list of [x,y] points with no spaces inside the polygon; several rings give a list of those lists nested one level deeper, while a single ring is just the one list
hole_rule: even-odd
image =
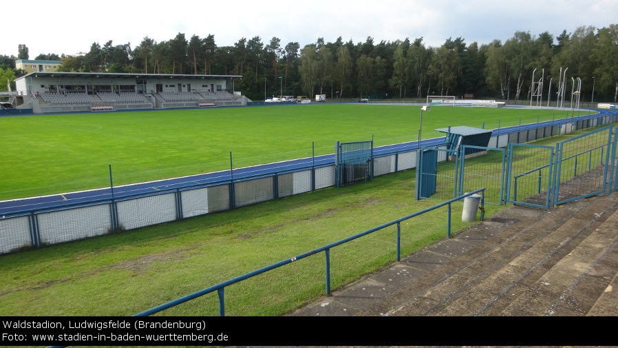
[{"label": "weathered concrete terrace steps in the lower right foreground", "polygon": [[618,192],[511,206],[290,316],[617,316]]}]

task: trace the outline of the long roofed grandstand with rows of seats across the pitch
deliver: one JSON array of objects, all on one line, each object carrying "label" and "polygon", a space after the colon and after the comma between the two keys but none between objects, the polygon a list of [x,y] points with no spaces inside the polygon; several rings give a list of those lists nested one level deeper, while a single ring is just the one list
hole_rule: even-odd
[{"label": "long roofed grandstand with rows of seats across the pitch", "polygon": [[31,72],[15,79],[17,108],[88,112],[246,105],[239,75]]}]

